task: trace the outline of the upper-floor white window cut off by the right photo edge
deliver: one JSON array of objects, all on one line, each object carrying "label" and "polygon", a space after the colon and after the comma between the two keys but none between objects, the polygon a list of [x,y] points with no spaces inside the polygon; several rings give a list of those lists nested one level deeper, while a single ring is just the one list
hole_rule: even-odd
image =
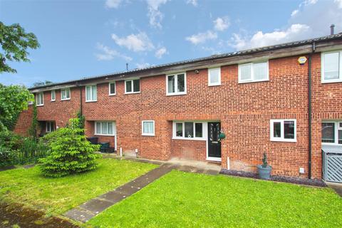
[{"label": "upper-floor white window cut off by the right photo edge", "polygon": [[321,54],[322,83],[342,82],[342,51]]}]

